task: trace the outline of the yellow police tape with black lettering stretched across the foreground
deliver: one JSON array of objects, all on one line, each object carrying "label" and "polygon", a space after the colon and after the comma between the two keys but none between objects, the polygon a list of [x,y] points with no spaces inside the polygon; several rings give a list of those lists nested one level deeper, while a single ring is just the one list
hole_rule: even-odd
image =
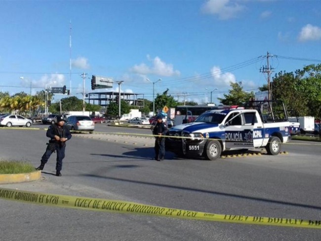
[{"label": "yellow police tape with black lettering stretched across the foreground", "polygon": [[303,220],[291,218],[269,218],[244,215],[227,215],[189,211],[183,209],[166,208],[145,205],[135,202],[109,200],[90,197],[67,196],[47,193],[35,193],[20,190],[0,188],[0,198],[41,204],[55,207],[76,208],[92,211],[107,211],[127,214],[142,214],[171,218],[184,218],[214,222],[239,224],[272,225],[295,228],[321,229],[321,220]]}]

